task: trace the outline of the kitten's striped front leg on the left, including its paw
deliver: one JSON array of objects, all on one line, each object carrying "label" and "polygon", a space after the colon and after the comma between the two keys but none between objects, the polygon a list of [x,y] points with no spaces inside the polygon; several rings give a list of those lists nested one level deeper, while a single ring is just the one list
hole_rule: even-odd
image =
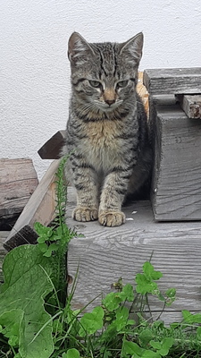
[{"label": "kitten's striped front leg on the left, including its paw", "polygon": [[75,167],[73,183],[77,192],[77,207],[72,217],[77,221],[93,221],[98,216],[98,181],[90,167]]}]

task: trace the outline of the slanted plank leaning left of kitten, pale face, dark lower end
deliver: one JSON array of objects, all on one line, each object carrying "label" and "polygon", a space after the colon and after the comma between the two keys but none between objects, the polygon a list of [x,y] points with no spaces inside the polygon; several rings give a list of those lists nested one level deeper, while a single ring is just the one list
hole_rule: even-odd
[{"label": "slanted plank leaning left of kitten, pale face, dark lower end", "polygon": [[49,166],[46,174],[32,194],[21,216],[13,226],[13,230],[7,237],[4,247],[11,250],[22,243],[36,243],[37,235],[33,230],[35,222],[48,225],[54,218],[55,208],[55,172],[59,166],[59,160]]}]

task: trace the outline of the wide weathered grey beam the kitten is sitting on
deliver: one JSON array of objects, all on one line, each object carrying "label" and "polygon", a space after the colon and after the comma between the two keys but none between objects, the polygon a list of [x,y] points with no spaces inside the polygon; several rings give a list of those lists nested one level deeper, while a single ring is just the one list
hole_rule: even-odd
[{"label": "wide weathered grey beam the kitten is sitting on", "polygon": [[[134,284],[133,277],[153,253],[155,269],[163,272],[161,290],[177,289],[177,300],[166,310],[166,320],[175,320],[183,309],[201,310],[201,222],[184,222],[182,226],[176,222],[158,223],[150,202],[138,201],[123,209],[127,221],[118,228],[100,226],[97,221],[79,223],[71,218],[75,194],[69,190],[68,196],[67,223],[84,234],[69,244],[69,275],[75,277],[79,267],[74,307],[81,308],[98,294],[111,292],[111,284],[119,277],[124,283]],[[100,299],[101,296],[87,311]],[[162,306],[152,300],[151,307],[158,314]]]}]

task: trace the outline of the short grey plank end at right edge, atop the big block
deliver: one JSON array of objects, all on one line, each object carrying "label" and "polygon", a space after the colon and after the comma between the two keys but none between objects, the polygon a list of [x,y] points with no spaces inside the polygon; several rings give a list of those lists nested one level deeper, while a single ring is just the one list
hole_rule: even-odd
[{"label": "short grey plank end at right edge, atop the big block", "polygon": [[201,118],[201,94],[178,95],[177,99],[188,118]]}]

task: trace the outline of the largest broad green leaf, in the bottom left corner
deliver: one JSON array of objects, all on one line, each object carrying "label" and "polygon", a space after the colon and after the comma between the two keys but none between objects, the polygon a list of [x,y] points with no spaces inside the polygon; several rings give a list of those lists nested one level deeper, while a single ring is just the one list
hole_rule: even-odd
[{"label": "largest broad green leaf, in the bottom left corner", "polygon": [[[48,276],[52,261],[43,257],[38,245],[23,245],[4,258],[4,284],[0,286],[0,312],[23,312],[19,322],[19,353],[22,358],[48,358],[54,350],[51,316],[44,297],[53,290]],[[20,314],[20,313],[19,313]],[[10,323],[8,320],[11,320]],[[12,324],[11,315],[7,325]]]}]

